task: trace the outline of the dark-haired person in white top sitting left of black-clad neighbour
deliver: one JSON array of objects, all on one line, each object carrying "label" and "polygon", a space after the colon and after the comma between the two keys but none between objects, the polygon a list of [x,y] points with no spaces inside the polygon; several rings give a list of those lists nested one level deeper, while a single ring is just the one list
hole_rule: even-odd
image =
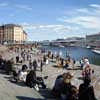
[{"label": "dark-haired person in white top sitting left of black-clad neighbour", "polygon": [[19,81],[26,82],[27,68],[28,68],[27,65],[22,66],[22,70],[19,71],[19,73],[18,73],[18,80]]}]

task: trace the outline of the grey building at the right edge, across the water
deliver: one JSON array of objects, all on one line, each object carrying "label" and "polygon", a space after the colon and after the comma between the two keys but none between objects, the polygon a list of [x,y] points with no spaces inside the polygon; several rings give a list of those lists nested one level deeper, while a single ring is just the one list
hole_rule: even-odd
[{"label": "grey building at the right edge, across the water", "polygon": [[97,34],[87,35],[86,42],[88,46],[100,47],[100,32]]}]

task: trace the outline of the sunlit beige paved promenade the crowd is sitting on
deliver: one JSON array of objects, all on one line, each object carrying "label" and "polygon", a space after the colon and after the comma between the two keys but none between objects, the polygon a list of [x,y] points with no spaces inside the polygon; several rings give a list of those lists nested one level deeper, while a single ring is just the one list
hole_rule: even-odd
[{"label": "sunlit beige paved promenade the crowd is sitting on", "polygon": [[[4,53],[4,58],[10,59],[12,57],[15,57],[16,54],[14,52],[6,52]],[[39,58],[40,56],[34,55],[34,58]],[[23,64],[27,64],[28,62],[24,62]],[[82,80],[79,78],[81,77],[81,70],[76,70],[79,65],[78,62],[75,64],[74,70],[66,70],[62,68],[56,68],[53,67],[55,65],[54,62],[49,62],[48,65],[43,66],[43,72],[37,71],[37,76],[48,76],[48,79],[45,80],[45,83],[47,85],[47,89],[40,90],[37,92],[36,90],[29,88],[25,86],[23,83],[12,83],[10,82],[11,76],[4,74],[2,71],[0,71],[0,100],[55,100],[55,98],[52,97],[50,90],[53,88],[55,79],[59,74],[62,74],[64,72],[70,71],[73,73],[74,77],[72,79],[72,84],[79,87],[80,83],[82,83]],[[16,67],[21,67],[21,65],[15,65]],[[94,69],[94,75],[92,83],[94,85],[95,94],[98,100],[100,100],[100,66],[91,65],[91,67]]]}]

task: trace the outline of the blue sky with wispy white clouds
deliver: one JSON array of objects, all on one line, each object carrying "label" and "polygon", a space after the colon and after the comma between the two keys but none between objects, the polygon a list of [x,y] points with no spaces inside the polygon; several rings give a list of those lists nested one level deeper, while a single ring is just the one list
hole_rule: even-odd
[{"label": "blue sky with wispy white clouds", "polygon": [[19,24],[28,40],[100,32],[100,0],[0,0],[0,24]]}]

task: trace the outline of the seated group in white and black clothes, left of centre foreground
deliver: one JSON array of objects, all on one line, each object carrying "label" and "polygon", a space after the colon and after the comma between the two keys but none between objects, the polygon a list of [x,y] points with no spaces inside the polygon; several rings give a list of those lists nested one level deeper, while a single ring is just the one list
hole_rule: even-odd
[{"label": "seated group in white and black clothes, left of centre foreground", "polygon": [[35,70],[28,70],[27,65],[23,65],[22,69],[14,76],[17,82],[24,82],[27,86],[35,88],[37,91],[39,91],[40,86],[43,89],[46,88],[43,78],[36,76]]}]

